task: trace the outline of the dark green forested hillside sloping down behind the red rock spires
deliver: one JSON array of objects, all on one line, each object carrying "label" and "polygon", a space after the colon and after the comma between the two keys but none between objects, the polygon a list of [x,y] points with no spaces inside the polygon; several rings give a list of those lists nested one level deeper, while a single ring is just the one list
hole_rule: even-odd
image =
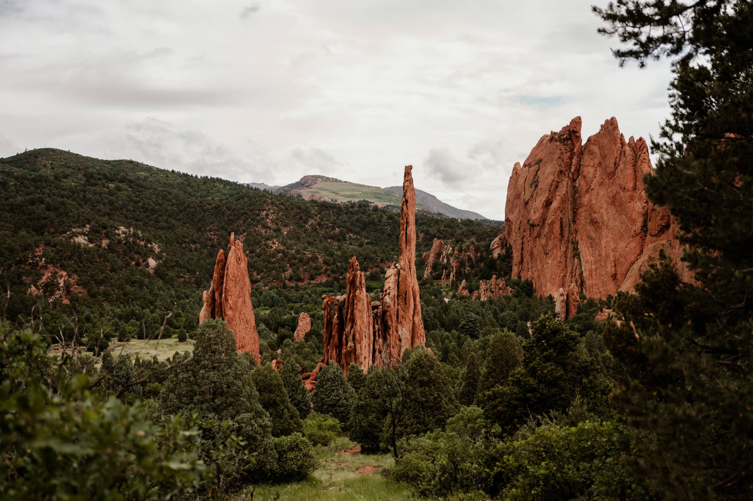
[{"label": "dark green forested hillside sloping down behind the red rock spires", "polygon": [[[262,294],[269,286],[304,286],[306,301],[320,307],[322,291],[343,286],[351,255],[373,272],[370,290],[380,289],[383,268],[398,253],[395,209],[297,200],[133,160],[27,151],[0,159],[0,194],[0,282],[11,292],[6,315],[21,323],[32,310],[46,315],[50,334],[63,327],[69,335],[79,327],[117,331],[122,323],[133,334],[139,325],[144,335],[169,312],[168,333],[191,332],[230,232],[244,243],[259,307],[276,306]],[[434,237],[474,239],[488,252],[501,231],[428,214],[416,225],[419,256]],[[489,278],[497,267],[479,260],[458,280]]]}]

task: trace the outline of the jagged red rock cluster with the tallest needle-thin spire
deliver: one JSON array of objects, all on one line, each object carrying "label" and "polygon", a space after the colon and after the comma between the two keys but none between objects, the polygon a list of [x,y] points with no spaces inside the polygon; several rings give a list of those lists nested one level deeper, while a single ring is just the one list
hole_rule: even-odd
[{"label": "jagged red rock cluster with the tallest needle-thin spire", "polygon": [[[350,362],[358,362],[365,372],[371,365],[394,363],[406,348],[426,342],[416,276],[416,191],[412,169],[405,167],[403,179],[398,264],[386,272],[380,301],[371,301],[355,256],[348,263],[346,293],[337,298],[322,296],[322,363],[334,360],[346,371]],[[313,375],[309,380],[315,378]]]}]

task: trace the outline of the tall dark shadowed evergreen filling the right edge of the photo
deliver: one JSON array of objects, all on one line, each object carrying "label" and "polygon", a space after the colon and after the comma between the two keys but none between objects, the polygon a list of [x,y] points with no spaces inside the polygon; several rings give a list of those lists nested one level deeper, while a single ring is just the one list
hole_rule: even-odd
[{"label": "tall dark shadowed evergreen filling the right edge of the photo", "polygon": [[[620,63],[672,59],[648,196],[678,221],[699,288],[660,263],[613,301],[607,346],[633,381],[616,393],[657,496],[742,498],[753,450],[753,4],[617,2],[595,9]],[[682,266],[683,264],[681,264]],[[650,445],[649,445],[650,444]]]}]

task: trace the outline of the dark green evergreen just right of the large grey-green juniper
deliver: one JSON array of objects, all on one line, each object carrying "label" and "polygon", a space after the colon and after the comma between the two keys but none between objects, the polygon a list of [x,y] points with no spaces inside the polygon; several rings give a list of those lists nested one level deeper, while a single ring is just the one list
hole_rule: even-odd
[{"label": "dark green evergreen just right of the large grey-green juniper", "polygon": [[251,373],[251,380],[259,394],[259,403],[270,414],[272,435],[281,437],[302,432],[303,423],[298,411],[291,405],[282,378],[272,365],[258,365]]}]

